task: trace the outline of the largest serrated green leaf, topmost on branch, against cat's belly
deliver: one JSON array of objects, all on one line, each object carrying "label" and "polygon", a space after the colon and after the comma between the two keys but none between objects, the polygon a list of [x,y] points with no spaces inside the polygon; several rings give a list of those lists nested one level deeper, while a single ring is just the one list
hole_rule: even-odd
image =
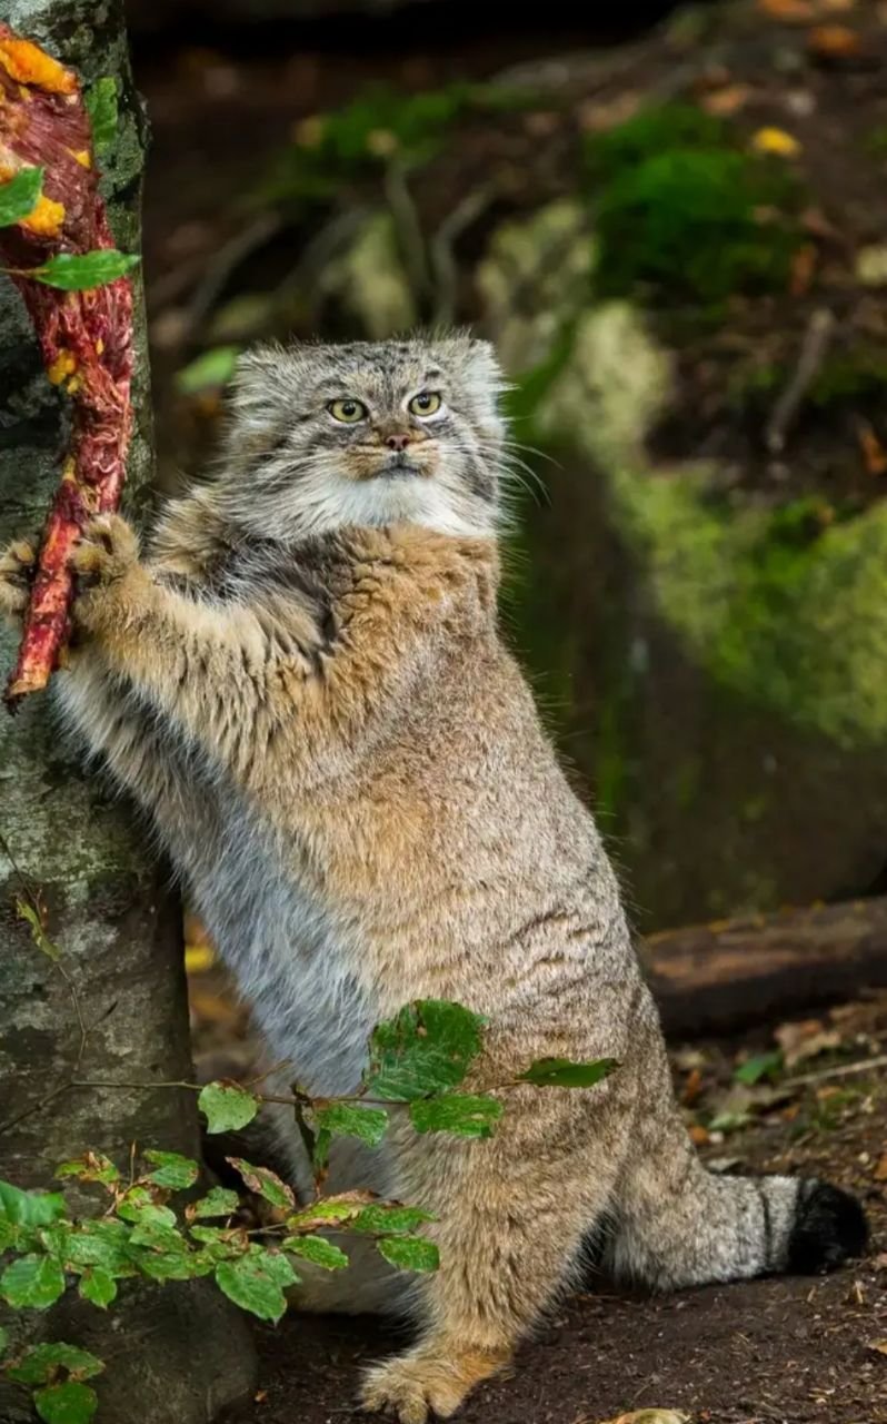
[{"label": "largest serrated green leaf, topmost on branch, against cat's belly", "polygon": [[463,1082],[481,1049],[484,1020],[478,1014],[426,998],[377,1024],[370,1038],[370,1065],[363,1075],[376,1098],[414,1102]]}]

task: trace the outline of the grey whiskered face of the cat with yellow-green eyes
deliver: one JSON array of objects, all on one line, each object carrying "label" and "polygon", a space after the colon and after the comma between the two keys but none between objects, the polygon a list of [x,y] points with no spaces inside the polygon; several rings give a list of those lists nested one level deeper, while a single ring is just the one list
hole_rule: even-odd
[{"label": "grey whiskered face of the cat with yellow-green eyes", "polygon": [[501,373],[467,336],[263,347],[242,357],[222,487],[273,537],[409,521],[493,533]]}]

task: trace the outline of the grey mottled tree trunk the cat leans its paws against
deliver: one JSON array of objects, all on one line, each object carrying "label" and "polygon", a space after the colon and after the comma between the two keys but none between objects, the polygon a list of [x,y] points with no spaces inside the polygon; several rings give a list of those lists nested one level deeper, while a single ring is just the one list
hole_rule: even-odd
[{"label": "grey mottled tree trunk the cat leans its paws against", "polygon": [[[104,192],[118,246],[138,251],[145,124],[130,77],[121,0],[3,0],[0,11],[84,83],[105,74],[120,78],[120,128],[104,155]],[[130,513],[144,510],[152,468],[141,292],[135,305]],[[64,397],[43,372],[13,285],[0,276],[0,545],[41,527],[60,478],[64,427]],[[16,638],[7,629],[0,637],[6,674]],[[75,753],[60,746],[46,693],[26,698],[16,718],[0,712],[0,1122],[10,1124],[0,1134],[0,1176],[46,1186],[65,1158],[95,1148],[121,1162],[134,1142],[198,1156],[191,1092],[80,1089],[51,1096],[77,1064],[78,1012],[65,977],[16,913],[20,871],[46,901],[48,933],[75,985],[87,1027],[81,1078],[189,1078],[181,916],[144,830],[132,810],[112,803],[80,770]],[[204,1424],[249,1391],[246,1321],[211,1282],[121,1286],[107,1316],[65,1296],[48,1317],[24,1319],[27,1329],[105,1358],[100,1420]],[[20,1331],[23,1317],[9,1323]],[[20,1390],[0,1384],[0,1418],[31,1418]]]}]

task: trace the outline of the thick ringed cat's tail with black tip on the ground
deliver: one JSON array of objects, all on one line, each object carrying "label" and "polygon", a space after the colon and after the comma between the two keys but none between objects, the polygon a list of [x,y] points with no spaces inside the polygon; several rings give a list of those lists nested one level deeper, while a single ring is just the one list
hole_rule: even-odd
[{"label": "thick ringed cat's tail with black tip on the ground", "polygon": [[602,1245],[616,1277],[669,1290],[833,1270],[867,1239],[857,1199],[819,1178],[708,1172],[672,1108],[639,1126]]}]

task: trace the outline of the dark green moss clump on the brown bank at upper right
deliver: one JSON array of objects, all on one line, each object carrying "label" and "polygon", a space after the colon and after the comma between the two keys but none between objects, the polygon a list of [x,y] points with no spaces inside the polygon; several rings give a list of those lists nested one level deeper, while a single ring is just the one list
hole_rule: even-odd
[{"label": "dark green moss clump on the brown bank at upper right", "polygon": [[688,105],[645,110],[589,140],[587,168],[602,295],[645,286],[669,303],[716,305],[784,289],[799,184],[784,164],[730,147],[719,120]]}]

